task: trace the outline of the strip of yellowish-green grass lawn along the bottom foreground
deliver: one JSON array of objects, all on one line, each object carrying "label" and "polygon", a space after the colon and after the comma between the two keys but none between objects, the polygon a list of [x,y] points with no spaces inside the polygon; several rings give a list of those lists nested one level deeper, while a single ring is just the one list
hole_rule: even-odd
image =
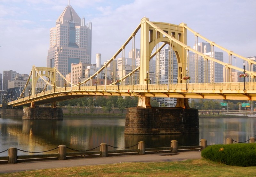
[{"label": "strip of yellowish-green grass lawn along the bottom foreground", "polygon": [[176,162],[132,162],[5,173],[0,176],[256,176],[256,167],[227,166],[207,159]]}]

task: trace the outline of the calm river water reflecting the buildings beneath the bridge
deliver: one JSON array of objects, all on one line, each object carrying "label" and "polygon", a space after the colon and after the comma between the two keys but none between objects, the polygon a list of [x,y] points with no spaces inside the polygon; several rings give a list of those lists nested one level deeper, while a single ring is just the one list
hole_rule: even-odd
[{"label": "calm river water reflecting the buildings beneath the bridge", "polygon": [[[200,139],[206,139],[207,145],[213,145],[226,144],[226,138],[244,142],[256,137],[256,118],[199,118],[200,133],[188,135],[124,135],[124,125],[123,117],[64,117],[63,120],[0,118],[0,152],[9,147],[42,152],[59,145],[89,150],[100,143],[130,147],[139,141],[144,141],[146,148],[169,147],[171,140],[177,140],[182,146],[198,145]],[[32,154],[28,152],[18,151],[18,155]],[[44,153],[57,152],[55,149]],[[0,156],[8,156],[8,151],[0,153]]]}]

